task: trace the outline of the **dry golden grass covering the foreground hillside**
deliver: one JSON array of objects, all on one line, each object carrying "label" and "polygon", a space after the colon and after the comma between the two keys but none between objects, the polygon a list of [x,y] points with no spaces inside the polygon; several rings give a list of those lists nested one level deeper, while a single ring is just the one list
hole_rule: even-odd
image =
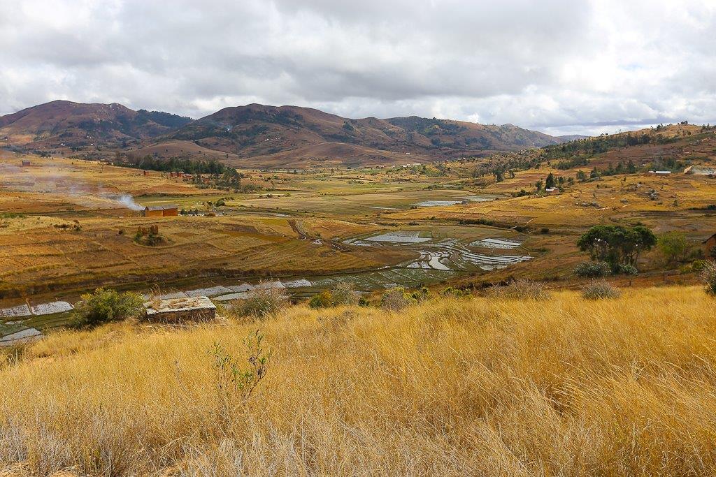
[{"label": "dry golden grass covering the foreground hillside", "polygon": [[[59,333],[0,366],[0,468],[712,475],[715,310],[702,288],[670,287]],[[269,368],[242,403],[218,390],[211,350],[243,363],[257,328]]]}]

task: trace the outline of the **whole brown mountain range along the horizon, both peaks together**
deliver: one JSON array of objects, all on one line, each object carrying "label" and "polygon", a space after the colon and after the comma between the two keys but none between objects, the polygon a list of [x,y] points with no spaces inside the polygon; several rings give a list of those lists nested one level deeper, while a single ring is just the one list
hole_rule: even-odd
[{"label": "whole brown mountain range along the horizon, both peaks together", "polygon": [[84,150],[93,157],[117,150],[158,157],[212,157],[237,167],[430,162],[561,142],[513,124],[417,116],[348,119],[318,109],[262,104],[224,108],[195,121],[166,112],[134,111],[117,103],[69,101],[0,117],[0,146]]}]

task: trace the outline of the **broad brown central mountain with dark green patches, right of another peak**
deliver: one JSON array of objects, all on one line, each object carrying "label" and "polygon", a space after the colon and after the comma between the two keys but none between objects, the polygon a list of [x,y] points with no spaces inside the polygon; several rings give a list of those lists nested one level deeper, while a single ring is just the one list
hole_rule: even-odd
[{"label": "broad brown central mountain with dark green patches, right of another peak", "polygon": [[[263,104],[221,109],[186,124],[169,139],[236,154],[239,164],[252,167],[297,167],[309,159],[314,164],[336,162],[334,159],[339,159],[339,164],[427,162],[561,142],[512,124],[415,116],[347,119],[317,109]],[[412,157],[403,159],[396,154]]]}]

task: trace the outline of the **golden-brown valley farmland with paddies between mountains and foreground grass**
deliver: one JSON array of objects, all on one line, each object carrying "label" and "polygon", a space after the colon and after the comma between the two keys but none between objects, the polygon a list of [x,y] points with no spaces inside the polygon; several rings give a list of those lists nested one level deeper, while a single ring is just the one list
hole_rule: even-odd
[{"label": "golden-brown valley farmland with paddies between mountains and foreground grass", "polygon": [[[692,132],[683,128],[672,131],[674,137]],[[713,139],[702,136],[680,146],[669,142],[659,153],[693,162],[690,157],[712,147]],[[589,164],[609,167],[627,154],[642,164],[654,147],[608,149]],[[574,286],[579,280],[572,269],[585,258],[574,244],[591,225],[641,223],[657,234],[679,230],[692,248],[716,231],[709,210],[716,183],[707,175],[632,172],[569,182],[557,194],[522,194],[547,174],[574,179],[579,167],[530,159],[535,167],[500,181],[472,172],[474,164],[505,157],[407,167],[242,170],[241,190],[219,190],[167,172],[2,152],[0,309],[74,303],[80,293],[100,286],[144,293],[223,287],[233,297],[233,288],[243,290],[242,284],[274,280],[294,284],[296,300],[345,281],[368,294],[445,282],[483,287],[516,275]],[[169,204],[191,213],[153,218],[140,212]],[[134,240],[137,230],[153,226],[160,243]],[[662,265],[652,251],[642,260],[642,274],[628,281],[697,280],[688,268],[667,277]],[[44,330],[43,323],[64,323],[62,314],[7,321],[17,323],[6,324],[5,334],[23,324]]]}]

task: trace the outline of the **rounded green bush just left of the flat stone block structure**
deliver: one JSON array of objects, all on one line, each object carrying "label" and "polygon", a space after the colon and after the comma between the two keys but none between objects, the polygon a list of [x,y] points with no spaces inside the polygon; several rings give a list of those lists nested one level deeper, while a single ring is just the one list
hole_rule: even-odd
[{"label": "rounded green bush just left of the flat stone block structure", "polygon": [[72,310],[70,324],[74,328],[92,328],[112,321],[137,318],[142,313],[142,295],[97,288],[95,292],[82,295],[82,301]]}]

